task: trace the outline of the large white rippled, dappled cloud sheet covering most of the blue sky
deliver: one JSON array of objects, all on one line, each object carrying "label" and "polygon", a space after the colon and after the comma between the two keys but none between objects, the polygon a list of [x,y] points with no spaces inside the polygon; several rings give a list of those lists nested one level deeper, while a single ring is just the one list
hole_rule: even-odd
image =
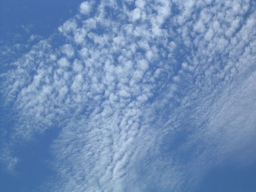
[{"label": "large white rippled, dappled cloud sheet covering most of the blue sky", "polygon": [[[1,74],[4,105],[17,113],[10,145],[61,128],[45,191],[186,191],[212,169],[204,162],[221,163],[255,139],[255,8],[128,4],[83,2],[86,19],[59,27],[68,44],[54,51],[40,41]],[[14,169],[18,157],[4,154]]]}]

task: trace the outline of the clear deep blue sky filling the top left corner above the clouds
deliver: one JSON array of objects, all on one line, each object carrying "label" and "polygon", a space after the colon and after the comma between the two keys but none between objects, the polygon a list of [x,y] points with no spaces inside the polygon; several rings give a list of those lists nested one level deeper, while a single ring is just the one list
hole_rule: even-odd
[{"label": "clear deep blue sky filling the top left corner above the clouds", "polygon": [[0,41],[7,44],[22,43],[32,34],[47,38],[65,20],[76,14],[81,2],[81,0],[1,0]]}]

